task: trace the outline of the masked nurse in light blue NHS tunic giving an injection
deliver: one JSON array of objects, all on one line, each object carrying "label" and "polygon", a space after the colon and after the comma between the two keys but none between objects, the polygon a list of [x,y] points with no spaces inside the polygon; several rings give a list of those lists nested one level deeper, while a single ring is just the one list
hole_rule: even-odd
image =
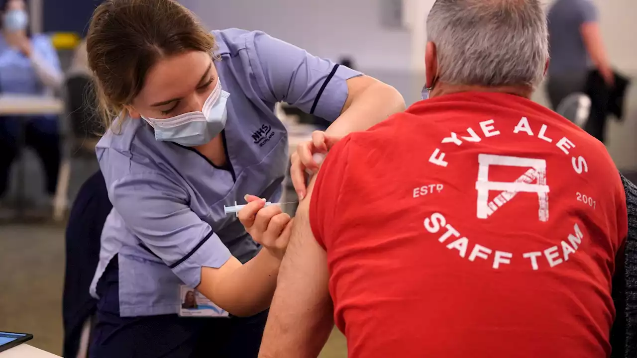
[{"label": "masked nurse in light blue NHS tunic giving an injection", "polygon": [[[87,53],[113,204],[90,357],[256,357],[293,222],[261,200],[280,199],[290,162],[275,104],[333,121],[292,155],[303,197],[313,154],[404,110],[403,97],[264,32],[206,31],[173,0],[105,1]],[[198,309],[185,310],[192,289]]]}]

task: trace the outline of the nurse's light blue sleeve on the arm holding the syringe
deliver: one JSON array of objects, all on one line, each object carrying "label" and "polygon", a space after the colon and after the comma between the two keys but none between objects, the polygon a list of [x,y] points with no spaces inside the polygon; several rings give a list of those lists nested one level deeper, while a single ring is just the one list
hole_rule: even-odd
[{"label": "nurse's light blue sleeve on the arm holding the syringe", "polygon": [[210,225],[190,210],[187,193],[161,173],[136,173],[108,188],[113,207],[143,247],[183,283],[196,287],[201,267],[218,268],[231,256]]}]

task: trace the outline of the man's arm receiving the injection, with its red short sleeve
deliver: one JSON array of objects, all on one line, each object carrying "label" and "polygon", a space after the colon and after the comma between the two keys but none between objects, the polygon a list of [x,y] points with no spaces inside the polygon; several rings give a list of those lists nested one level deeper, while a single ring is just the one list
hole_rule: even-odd
[{"label": "man's arm receiving the injection, with its red short sleeve", "polygon": [[334,326],[324,245],[328,233],[324,224],[329,225],[332,215],[324,208],[338,200],[341,168],[347,163],[343,153],[347,141],[348,138],[330,151],[317,177],[308,185],[308,196],[299,204],[260,357],[316,357]]}]

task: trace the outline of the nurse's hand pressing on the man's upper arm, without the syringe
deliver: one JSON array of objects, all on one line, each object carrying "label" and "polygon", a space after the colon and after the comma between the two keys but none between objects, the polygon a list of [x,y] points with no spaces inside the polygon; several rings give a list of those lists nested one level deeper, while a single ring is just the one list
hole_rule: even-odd
[{"label": "nurse's hand pressing on the man's upper arm, without the syringe", "polygon": [[341,140],[341,137],[328,136],[326,132],[314,131],[312,140],[299,144],[296,152],[292,154],[290,160],[290,177],[294,190],[296,190],[299,200],[303,200],[307,194],[308,172],[311,175],[318,173],[318,168],[325,158],[327,152]]}]

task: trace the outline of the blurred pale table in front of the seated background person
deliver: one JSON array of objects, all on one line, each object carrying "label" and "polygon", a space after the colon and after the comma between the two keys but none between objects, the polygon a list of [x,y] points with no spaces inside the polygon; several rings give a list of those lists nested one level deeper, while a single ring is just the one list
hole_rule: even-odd
[{"label": "blurred pale table in front of the seated background person", "polygon": [[[17,117],[28,118],[30,115],[59,115],[63,116],[65,111],[64,101],[59,98],[51,97],[51,96],[25,96],[25,95],[17,95],[17,94],[3,94],[0,96],[0,115],[11,115]],[[62,124],[62,121],[61,121]],[[64,138],[64,136],[61,136]],[[64,139],[63,139],[64,140]],[[24,127],[20,131],[20,138],[18,140],[18,150],[24,150]],[[65,147],[64,145],[62,145]],[[68,180],[64,180],[68,178],[70,175],[70,163],[66,153],[62,152],[62,162],[60,166],[59,172],[59,180],[57,184],[57,190],[55,192],[54,199],[54,215],[56,218],[62,216],[64,211],[64,204],[66,202],[66,190],[64,185]],[[20,182],[19,192],[21,196],[24,196],[24,158],[20,155]],[[24,198],[23,198],[24,199]],[[18,215],[22,215],[22,210],[24,203],[18,203]]]}]

